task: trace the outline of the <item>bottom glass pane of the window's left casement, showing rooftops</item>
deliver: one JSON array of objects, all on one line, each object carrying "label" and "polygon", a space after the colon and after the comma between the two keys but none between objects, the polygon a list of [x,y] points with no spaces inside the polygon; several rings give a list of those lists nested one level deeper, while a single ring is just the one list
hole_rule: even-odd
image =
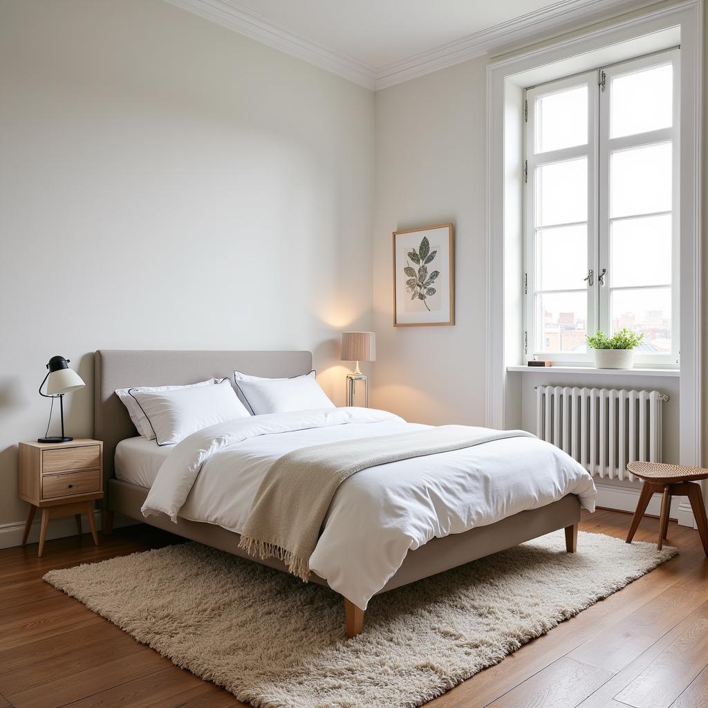
[{"label": "bottom glass pane of the window's left casement, showing rooftops", "polygon": [[536,321],[536,346],[539,351],[584,353],[588,333],[587,292],[537,295]]}]

